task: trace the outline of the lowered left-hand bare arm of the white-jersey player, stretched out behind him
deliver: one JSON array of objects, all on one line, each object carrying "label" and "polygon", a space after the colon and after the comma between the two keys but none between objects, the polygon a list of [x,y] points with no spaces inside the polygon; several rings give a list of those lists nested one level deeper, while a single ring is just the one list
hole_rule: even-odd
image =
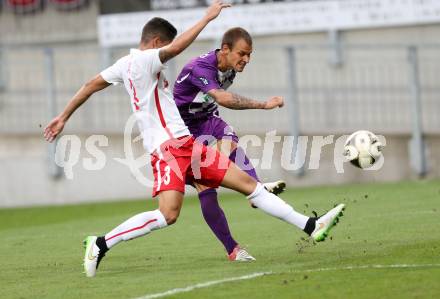
[{"label": "lowered left-hand bare arm of the white-jersey player, stretched out behind him", "polygon": [[96,75],[93,79],[84,84],[69,101],[63,112],[55,117],[44,128],[44,138],[47,141],[52,142],[63,131],[64,125],[73,112],[84,104],[92,94],[108,87],[109,85],[111,84],[105,81],[101,75]]}]

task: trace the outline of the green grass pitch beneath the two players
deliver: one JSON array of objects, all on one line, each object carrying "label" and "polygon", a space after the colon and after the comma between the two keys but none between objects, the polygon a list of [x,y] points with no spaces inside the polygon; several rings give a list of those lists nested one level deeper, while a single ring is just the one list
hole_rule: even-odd
[{"label": "green grass pitch beneath the two players", "polygon": [[169,298],[440,298],[440,181],[290,188],[282,198],[311,214],[347,204],[332,239],[305,234],[221,194],[234,237],[257,258],[231,263],[185,199],[177,224],[122,243],[95,278],[82,273],[82,240],[156,201],[0,210],[0,298],[137,298],[240,277]]}]

